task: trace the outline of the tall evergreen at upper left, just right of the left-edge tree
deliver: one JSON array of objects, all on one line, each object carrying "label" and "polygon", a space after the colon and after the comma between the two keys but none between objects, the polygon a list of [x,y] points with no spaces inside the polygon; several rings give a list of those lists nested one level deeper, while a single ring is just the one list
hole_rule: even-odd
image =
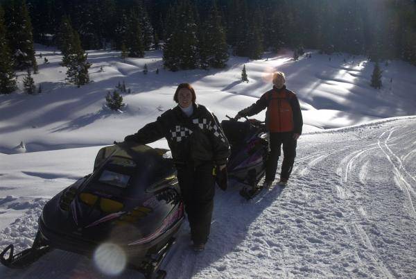
[{"label": "tall evergreen at upper left, just right of the left-edge tree", "polygon": [[5,2],[5,19],[8,28],[8,42],[15,56],[15,67],[26,69],[32,67],[37,73],[31,17],[26,1],[10,0]]}]

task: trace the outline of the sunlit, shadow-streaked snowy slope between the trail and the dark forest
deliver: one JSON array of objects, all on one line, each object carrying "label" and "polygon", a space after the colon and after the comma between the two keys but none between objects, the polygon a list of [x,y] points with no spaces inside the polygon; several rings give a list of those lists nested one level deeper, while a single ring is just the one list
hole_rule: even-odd
[{"label": "sunlit, shadow-streaked snowy slope between the trail and the dark forest", "polygon": [[[251,61],[232,56],[226,69],[171,72],[162,68],[160,51],[125,62],[119,52],[89,51],[93,82],[76,88],[64,83],[66,68],[59,65],[59,52],[38,48],[37,53],[41,52],[50,61],[44,65],[38,58],[40,74],[34,78],[42,85],[42,94],[0,96],[1,153],[24,151],[19,148],[21,142],[31,152],[120,141],[172,108],[173,93],[182,82],[191,83],[197,101],[225,119],[225,115],[236,115],[270,90],[270,73],[275,70],[286,72],[288,88],[300,99],[305,131],[416,114],[416,68],[399,61],[382,65],[385,86],[374,90],[370,87],[373,63],[363,57],[312,51],[312,58],[302,56],[293,61],[290,52],[266,53],[263,59]],[[145,64],[147,75],[142,73]],[[243,64],[250,83],[240,81]],[[156,69],[159,74],[155,74]],[[23,76],[19,74],[20,87]],[[121,114],[103,109],[107,92],[123,81],[132,92],[123,96],[127,108]],[[257,117],[263,119],[264,112]]]}]

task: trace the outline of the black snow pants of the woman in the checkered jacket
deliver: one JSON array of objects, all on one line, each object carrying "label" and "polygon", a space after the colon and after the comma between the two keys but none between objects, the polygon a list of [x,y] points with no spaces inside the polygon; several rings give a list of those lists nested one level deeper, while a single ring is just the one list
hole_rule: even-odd
[{"label": "black snow pants of the woman in the checkered jacket", "polygon": [[215,194],[213,167],[212,162],[204,162],[197,166],[194,164],[177,165],[177,180],[194,244],[205,244],[211,228]]}]

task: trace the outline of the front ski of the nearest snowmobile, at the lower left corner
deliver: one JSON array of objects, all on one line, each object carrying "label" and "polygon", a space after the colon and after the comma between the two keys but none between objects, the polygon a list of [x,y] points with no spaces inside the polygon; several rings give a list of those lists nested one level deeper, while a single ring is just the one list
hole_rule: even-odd
[{"label": "front ski of the nearest snowmobile, at the lower left corner", "polygon": [[[20,253],[13,255],[15,248],[10,244],[0,253],[0,262],[10,269],[23,269],[36,262],[42,255],[45,255],[51,250],[51,247],[44,246],[41,248],[28,248]],[[6,253],[9,252],[6,258]]]}]

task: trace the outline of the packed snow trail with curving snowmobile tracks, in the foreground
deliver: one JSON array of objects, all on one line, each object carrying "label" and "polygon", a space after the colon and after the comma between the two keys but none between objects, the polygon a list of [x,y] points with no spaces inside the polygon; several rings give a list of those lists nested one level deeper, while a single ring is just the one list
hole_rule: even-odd
[{"label": "packed snow trail with curving snowmobile tracks, in the foreground", "polygon": [[[302,135],[286,188],[248,202],[241,185],[218,189],[205,251],[189,248],[184,223],[164,263],[168,278],[415,278],[414,162],[416,117]],[[15,226],[2,239],[18,241]],[[24,271],[1,267],[0,275],[106,278],[86,257],[64,251]],[[119,278],[137,276],[127,270]]]}]

